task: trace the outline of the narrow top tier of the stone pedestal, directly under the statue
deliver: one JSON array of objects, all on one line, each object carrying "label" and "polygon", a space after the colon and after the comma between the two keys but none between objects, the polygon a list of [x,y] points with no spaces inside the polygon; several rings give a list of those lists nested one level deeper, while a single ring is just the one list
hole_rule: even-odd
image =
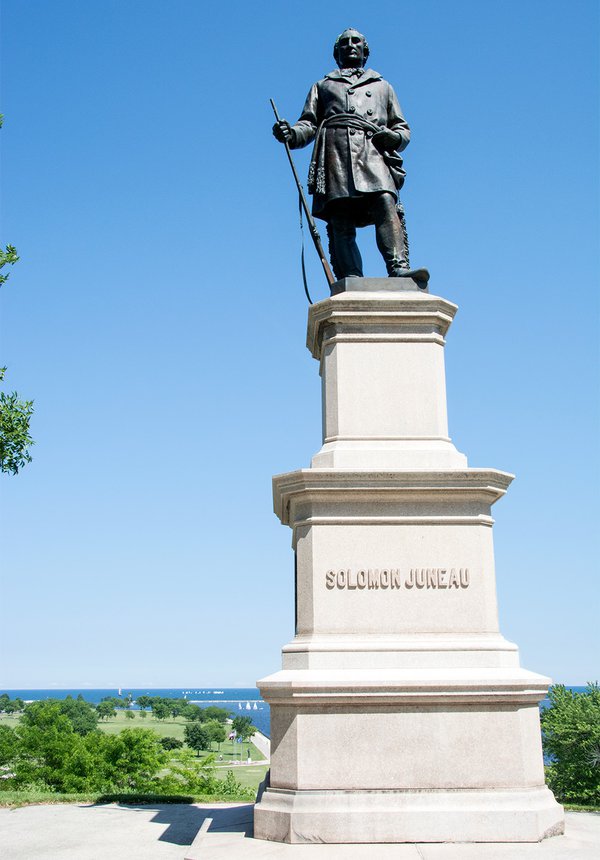
[{"label": "narrow top tier of the stone pedestal, directly under the statue", "polygon": [[456,306],[438,296],[342,293],[312,305],[323,447],[315,468],[464,468],[448,438],[444,335]]}]

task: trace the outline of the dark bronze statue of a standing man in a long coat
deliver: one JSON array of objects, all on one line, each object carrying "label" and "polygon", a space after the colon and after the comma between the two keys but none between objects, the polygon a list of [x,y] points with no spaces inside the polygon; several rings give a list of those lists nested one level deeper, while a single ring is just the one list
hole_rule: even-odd
[{"label": "dark bronze statue of a standing man in a long coat", "polygon": [[[390,84],[364,68],[369,46],[361,33],[344,30],[333,56],[339,69],[314,84],[295,125],[281,120],[273,134],[292,149],[315,141],[308,190],[313,215],[327,222],[336,278],[363,277],[356,228],[370,224],[388,276],[406,277],[408,242],[398,200],[405,173],[398,153],[410,129]],[[428,273],[419,274],[426,284]]]}]

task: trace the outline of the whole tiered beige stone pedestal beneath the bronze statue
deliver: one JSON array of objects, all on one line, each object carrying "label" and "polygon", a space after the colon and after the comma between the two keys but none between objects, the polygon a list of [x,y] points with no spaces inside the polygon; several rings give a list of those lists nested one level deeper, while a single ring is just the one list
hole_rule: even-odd
[{"label": "whole tiered beige stone pedestal beneath the bronze statue", "polygon": [[448,436],[455,312],[381,288],[310,308],[324,441],[310,468],[273,479],[297,623],[282,670],[258,682],[272,750],[258,838],[562,832],[540,740],[549,679],[520,668],[498,628],[491,506],[512,476],[469,468]]}]

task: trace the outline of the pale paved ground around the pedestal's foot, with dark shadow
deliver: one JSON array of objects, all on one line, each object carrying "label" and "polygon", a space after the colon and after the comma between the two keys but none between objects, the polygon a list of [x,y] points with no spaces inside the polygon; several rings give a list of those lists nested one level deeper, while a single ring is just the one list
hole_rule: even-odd
[{"label": "pale paved ground around the pedestal's foot, with dark shadow", "polygon": [[[565,836],[535,844],[278,845],[250,838],[251,824],[252,804],[57,804],[0,809],[0,857],[2,860],[598,860],[600,857],[600,814],[594,813],[568,812]],[[204,832],[199,834],[201,828]]]}]

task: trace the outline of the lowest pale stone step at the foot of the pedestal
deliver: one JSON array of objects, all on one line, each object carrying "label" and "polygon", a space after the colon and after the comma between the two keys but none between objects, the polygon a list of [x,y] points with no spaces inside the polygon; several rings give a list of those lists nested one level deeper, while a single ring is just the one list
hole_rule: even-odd
[{"label": "lowest pale stone step at the foot of the pedestal", "polygon": [[254,836],[287,843],[539,842],[564,832],[547,788],[522,791],[291,791],[267,788]]}]

